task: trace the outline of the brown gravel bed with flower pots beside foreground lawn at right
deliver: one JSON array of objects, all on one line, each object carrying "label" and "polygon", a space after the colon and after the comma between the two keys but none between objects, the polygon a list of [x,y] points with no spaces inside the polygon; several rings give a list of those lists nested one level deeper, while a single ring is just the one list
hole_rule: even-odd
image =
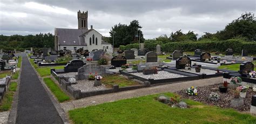
[{"label": "brown gravel bed with flower pots beside foreground lawn at right", "polygon": [[[185,90],[178,91],[176,93],[181,95],[181,98],[183,99],[192,99],[194,101],[203,102],[204,104],[208,104],[208,105],[215,105],[223,108],[231,108],[230,102],[231,102],[231,99],[234,98],[233,92],[231,91],[231,89],[228,89],[227,93],[220,93],[218,87],[222,85],[223,84],[214,84],[209,86],[197,87],[198,95],[192,95],[192,96],[187,95],[185,93]],[[220,99],[217,102],[208,100],[208,96],[211,94],[211,92],[215,92],[220,95]],[[244,98],[244,106],[234,108],[234,109],[242,112],[250,111],[252,95],[255,95],[255,94],[256,93],[252,91],[252,88],[249,88],[249,90],[246,93],[246,98]]]}]

